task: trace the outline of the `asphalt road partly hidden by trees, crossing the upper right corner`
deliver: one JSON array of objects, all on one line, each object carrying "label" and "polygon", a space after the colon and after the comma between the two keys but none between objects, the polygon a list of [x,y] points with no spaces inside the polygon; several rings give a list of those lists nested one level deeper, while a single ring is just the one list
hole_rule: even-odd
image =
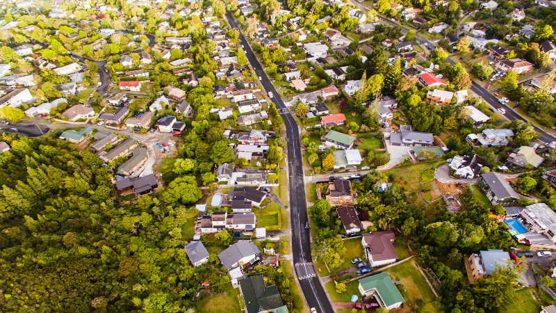
[{"label": "asphalt road partly hidden by trees, crossing the upper right corner", "polygon": [[[368,12],[368,10],[369,10],[366,6],[363,6],[363,4],[359,3],[358,1],[352,1],[352,3],[359,6],[359,9],[362,10],[363,12],[365,12],[365,13]],[[381,15],[379,15],[379,18],[382,19],[384,22],[387,22],[387,23],[389,23],[393,26],[401,27],[403,33],[407,33],[407,31],[408,31],[407,27],[403,26],[402,24],[398,23],[397,21],[395,21],[393,19],[389,19],[389,18],[381,16]],[[427,45],[427,48],[436,49],[436,44],[434,42],[428,40],[427,38],[423,37],[419,33],[416,33],[416,37],[418,38],[418,40],[420,42],[425,43]],[[455,63],[452,60],[452,58],[448,58],[446,61],[448,61],[448,63],[450,63],[452,65]],[[502,114],[500,111],[498,111],[498,113],[500,113],[505,118],[507,118],[507,120],[523,120],[523,122],[526,122],[526,123],[530,124],[530,122],[528,122],[528,120],[525,120],[525,118],[523,118],[523,116],[521,116],[516,111],[514,111],[514,109],[512,109],[511,107],[509,107],[505,104],[501,104],[500,102],[498,102],[498,98],[496,97],[496,95],[493,95],[493,93],[491,93],[489,90],[487,90],[486,88],[481,86],[480,83],[477,83],[477,82],[473,81],[473,84],[471,85],[470,89],[473,91],[473,93],[475,93],[479,97],[482,97],[482,99],[484,99],[484,102],[489,104],[489,106],[491,106],[493,111],[498,111],[498,109],[500,109],[500,108],[504,109],[505,110],[504,114]],[[550,143],[552,141],[556,141],[556,137],[553,136],[552,134],[549,134],[547,131],[545,131],[545,130],[537,127],[537,126],[534,126],[534,125],[532,125],[532,126],[533,126],[534,130],[537,131],[537,133],[539,133],[539,140],[543,141],[544,143]]]}]

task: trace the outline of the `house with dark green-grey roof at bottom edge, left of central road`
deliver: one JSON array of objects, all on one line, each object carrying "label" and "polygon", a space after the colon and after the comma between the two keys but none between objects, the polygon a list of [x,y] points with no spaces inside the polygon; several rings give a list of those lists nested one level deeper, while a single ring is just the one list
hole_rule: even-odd
[{"label": "house with dark green-grey roof at bottom edge, left of central road", "polygon": [[252,275],[239,281],[246,313],[287,313],[288,308],[281,300],[275,284],[267,286],[263,275]]}]

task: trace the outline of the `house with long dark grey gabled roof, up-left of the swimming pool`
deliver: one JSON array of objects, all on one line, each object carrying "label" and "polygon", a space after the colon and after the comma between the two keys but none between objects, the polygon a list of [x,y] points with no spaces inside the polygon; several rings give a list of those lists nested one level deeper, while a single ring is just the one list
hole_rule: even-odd
[{"label": "house with long dark grey gabled roof, up-left of the swimming pool", "polygon": [[479,186],[494,205],[507,206],[518,200],[519,195],[509,185],[507,180],[497,172],[485,172],[481,174]]}]

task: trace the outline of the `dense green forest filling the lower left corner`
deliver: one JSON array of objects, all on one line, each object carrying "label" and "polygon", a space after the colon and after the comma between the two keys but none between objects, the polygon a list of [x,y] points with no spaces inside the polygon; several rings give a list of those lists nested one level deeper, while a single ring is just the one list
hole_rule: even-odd
[{"label": "dense green forest filling the lower left corner", "polygon": [[120,204],[108,168],[62,141],[0,141],[2,312],[184,312],[200,282],[229,284],[218,258],[190,265],[183,205]]}]

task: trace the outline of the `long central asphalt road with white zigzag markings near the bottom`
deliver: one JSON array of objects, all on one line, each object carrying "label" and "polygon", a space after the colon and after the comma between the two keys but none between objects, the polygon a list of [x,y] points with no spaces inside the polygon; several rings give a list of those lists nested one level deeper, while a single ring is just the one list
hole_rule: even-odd
[{"label": "long central asphalt road with white zigzag markings near the bottom", "polygon": [[[231,13],[227,12],[226,15],[230,26],[240,31],[236,19],[234,19]],[[263,67],[256,59],[256,56],[241,31],[239,39],[256,75],[261,77],[263,88],[267,93],[272,93],[274,95],[272,101],[277,105],[277,109],[280,111],[281,117],[284,119],[284,124],[286,125],[292,235],[291,250],[293,253],[293,264],[297,280],[300,283],[309,307],[314,307],[317,312],[334,312],[332,304],[325,293],[325,289],[322,287],[318,275],[316,274],[311,259],[310,232],[309,229],[305,227],[306,223],[308,223],[308,218],[299,129],[291,113],[289,113],[286,108],[286,104],[284,104],[284,101],[279,97],[278,91],[272,85],[270,79],[268,79]]]}]

